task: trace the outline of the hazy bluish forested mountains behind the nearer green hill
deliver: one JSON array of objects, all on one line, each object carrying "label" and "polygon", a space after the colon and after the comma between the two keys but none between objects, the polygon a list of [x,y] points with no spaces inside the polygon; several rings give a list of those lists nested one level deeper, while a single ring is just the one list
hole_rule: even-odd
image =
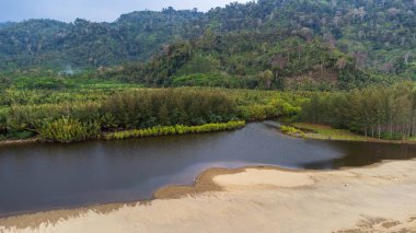
[{"label": "hazy bluish forested mountains behind the nearer green hill", "polygon": [[[231,3],[207,13],[172,8],[162,12],[132,12],[113,23],[81,19],[73,23],[53,20],[3,23],[0,69],[65,70],[68,66],[95,69],[148,61],[163,53],[167,44],[182,39],[204,37],[206,49],[216,53],[218,46],[210,45],[219,44],[218,36],[233,39],[244,49],[253,46],[245,42],[247,35],[279,33],[301,36],[308,43],[319,37],[326,46],[353,58],[356,69],[371,68],[415,79],[415,12],[413,0],[258,0]],[[303,44],[305,47],[307,43]],[[269,47],[266,45],[265,49]],[[344,63],[340,60],[337,65]],[[229,67],[244,72],[240,68],[234,63]]]}]

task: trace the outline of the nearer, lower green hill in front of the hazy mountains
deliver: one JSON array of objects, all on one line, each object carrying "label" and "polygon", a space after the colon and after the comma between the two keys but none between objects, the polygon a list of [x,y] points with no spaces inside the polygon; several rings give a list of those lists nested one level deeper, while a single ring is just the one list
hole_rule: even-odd
[{"label": "nearer, lower green hill in front of the hazy mountains", "polygon": [[281,33],[206,33],[175,43],[147,63],[106,69],[101,75],[147,86],[223,86],[327,91],[391,79],[356,68],[353,57],[322,39]]}]

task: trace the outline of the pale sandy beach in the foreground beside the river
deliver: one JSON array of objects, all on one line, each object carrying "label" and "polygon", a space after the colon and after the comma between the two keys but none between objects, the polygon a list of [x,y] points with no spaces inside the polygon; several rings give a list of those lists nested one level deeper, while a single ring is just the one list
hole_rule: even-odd
[{"label": "pale sandy beach in the foreground beside the river", "polygon": [[415,160],[334,172],[213,168],[150,202],[12,217],[0,232],[415,232]]}]

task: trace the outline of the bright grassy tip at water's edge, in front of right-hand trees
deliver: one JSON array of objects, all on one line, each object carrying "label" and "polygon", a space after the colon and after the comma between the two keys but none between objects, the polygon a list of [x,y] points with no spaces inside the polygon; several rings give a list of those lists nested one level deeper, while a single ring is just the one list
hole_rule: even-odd
[{"label": "bright grassy tip at water's edge, in front of right-hand trees", "polygon": [[[354,133],[347,129],[334,129],[331,126],[294,123],[294,127],[307,131],[304,138],[325,139],[325,140],[343,140],[343,141],[372,141],[374,139]],[[375,139],[377,140],[377,139]]]}]

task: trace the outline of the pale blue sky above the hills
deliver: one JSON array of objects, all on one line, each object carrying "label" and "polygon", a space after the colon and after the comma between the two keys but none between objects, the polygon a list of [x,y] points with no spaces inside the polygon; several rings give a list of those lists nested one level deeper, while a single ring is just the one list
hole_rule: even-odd
[{"label": "pale blue sky above the hills", "polygon": [[77,18],[94,22],[113,22],[120,14],[140,10],[160,11],[197,8],[208,11],[230,2],[249,0],[0,0],[0,22],[28,19],[54,19],[73,22]]}]

